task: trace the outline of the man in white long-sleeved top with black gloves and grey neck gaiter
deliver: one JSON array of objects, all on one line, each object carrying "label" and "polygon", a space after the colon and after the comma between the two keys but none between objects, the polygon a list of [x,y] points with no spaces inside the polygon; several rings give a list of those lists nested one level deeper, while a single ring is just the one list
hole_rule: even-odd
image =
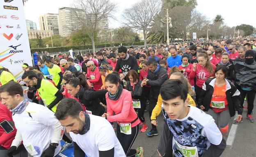
[{"label": "man in white long-sleeved top with black gloves and grey neck gaiter", "polygon": [[23,97],[23,89],[17,82],[8,82],[0,86],[0,97],[13,113],[12,118],[17,129],[8,155],[23,141],[23,145],[33,157],[55,157],[61,150],[60,140],[63,126],[47,107],[28,102]]}]

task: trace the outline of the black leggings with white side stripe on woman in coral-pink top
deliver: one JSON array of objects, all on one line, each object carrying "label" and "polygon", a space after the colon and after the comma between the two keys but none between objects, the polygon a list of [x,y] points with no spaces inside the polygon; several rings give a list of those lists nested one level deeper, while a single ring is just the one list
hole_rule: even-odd
[{"label": "black leggings with white side stripe on woman in coral-pink top", "polygon": [[124,153],[126,153],[127,157],[135,157],[135,154],[137,153],[136,149],[131,149],[131,147],[133,146],[133,143],[137,138],[139,129],[140,129],[140,126],[138,124],[137,126],[134,126],[132,128],[131,135],[126,135],[120,132],[120,126],[119,124],[117,124],[117,139],[119,140],[121,146],[123,147]]}]

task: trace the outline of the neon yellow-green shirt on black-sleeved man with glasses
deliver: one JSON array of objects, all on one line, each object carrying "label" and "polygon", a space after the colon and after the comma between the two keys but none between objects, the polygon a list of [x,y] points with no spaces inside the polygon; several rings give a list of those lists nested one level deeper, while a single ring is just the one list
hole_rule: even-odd
[{"label": "neon yellow-green shirt on black-sleeved man with glasses", "polygon": [[[43,103],[48,106],[53,100],[56,99],[55,94],[57,93],[58,89],[48,80],[42,80],[40,88],[37,89],[38,94],[43,100]],[[52,111],[55,112],[57,109],[57,105],[53,106]]]}]

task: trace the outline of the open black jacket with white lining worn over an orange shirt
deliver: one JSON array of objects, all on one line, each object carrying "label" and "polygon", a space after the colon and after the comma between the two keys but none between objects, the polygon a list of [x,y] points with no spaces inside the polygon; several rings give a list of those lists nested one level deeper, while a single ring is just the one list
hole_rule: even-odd
[{"label": "open black jacket with white lining worn over an orange shirt", "polygon": [[[242,107],[240,106],[240,92],[235,88],[235,85],[226,80],[226,98],[229,102],[229,113],[230,116],[233,117],[235,115],[235,111],[238,111],[239,115],[242,115]],[[210,108],[210,101],[213,96],[213,90],[215,86],[216,78],[208,79],[203,83],[201,96],[198,100],[198,104],[205,107],[204,111],[208,111]]]}]

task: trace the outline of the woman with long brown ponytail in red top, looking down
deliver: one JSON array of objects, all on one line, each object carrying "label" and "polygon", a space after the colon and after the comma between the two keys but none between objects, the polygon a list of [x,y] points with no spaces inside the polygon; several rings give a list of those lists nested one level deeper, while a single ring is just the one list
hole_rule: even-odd
[{"label": "woman with long brown ponytail in red top, looking down", "polygon": [[190,79],[196,77],[195,91],[196,100],[199,100],[203,83],[210,77],[214,77],[216,66],[213,65],[206,51],[197,54],[198,63],[193,63],[193,70],[190,73]]}]

